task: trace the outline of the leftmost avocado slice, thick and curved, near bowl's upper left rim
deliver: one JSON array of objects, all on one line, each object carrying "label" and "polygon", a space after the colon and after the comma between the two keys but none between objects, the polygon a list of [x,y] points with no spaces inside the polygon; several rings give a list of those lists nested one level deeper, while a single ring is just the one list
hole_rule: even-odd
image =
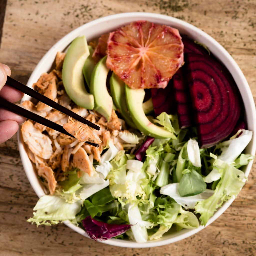
[{"label": "leftmost avocado slice, thick and curved, near bowl's upper left rim", "polygon": [[86,91],[83,78],[84,62],[90,55],[85,36],[77,37],[70,45],[64,59],[62,80],[65,90],[74,103],[93,109],[94,97]]}]

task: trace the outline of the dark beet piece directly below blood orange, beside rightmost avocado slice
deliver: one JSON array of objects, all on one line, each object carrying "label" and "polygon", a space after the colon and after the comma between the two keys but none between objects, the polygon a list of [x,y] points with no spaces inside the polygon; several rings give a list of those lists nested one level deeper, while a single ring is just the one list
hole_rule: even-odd
[{"label": "dark beet piece directly below blood orange, beside rightmost avocado slice", "polygon": [[172,80],[165,89],[151,89],[151,95],[156,116],[163,112],[167,114],[175,113],[176,103]]}]

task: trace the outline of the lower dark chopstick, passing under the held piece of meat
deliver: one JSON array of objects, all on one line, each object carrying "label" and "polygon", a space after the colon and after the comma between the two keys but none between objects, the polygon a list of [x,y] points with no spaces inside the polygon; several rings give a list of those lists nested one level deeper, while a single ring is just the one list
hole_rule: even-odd
[{"label": "lower dark chopstick, passing under the held piece of meat", "polygon": [[[0,106],[2,106],[3,108],[13,112],[13,113],[16,113],[18,115],[22,115],[24,116],[25,118],[28,118],[34,122],[37,122],[39,124],[42,124],[42,125],[45,125],[55,131],[58,131],[58,132],[61,132],[61,133],[64,133],[70,137],[73,137],[75,138],[74,136],[72,136],[70,133],[68,133],[61,125],[59,124],[56,124],[46,118],[43,118],[42,116],[40,115],[37,115],[27,109],[24,109],[22,108],[21,106],[18,106],[14,103],[11,103],[3,98],[0,98]],[[92,145],[94,147],[99,147],[99,144],[96,144],[96,143],[91,143],[91,142],[86,142],[87,144],[89,145]]]}]

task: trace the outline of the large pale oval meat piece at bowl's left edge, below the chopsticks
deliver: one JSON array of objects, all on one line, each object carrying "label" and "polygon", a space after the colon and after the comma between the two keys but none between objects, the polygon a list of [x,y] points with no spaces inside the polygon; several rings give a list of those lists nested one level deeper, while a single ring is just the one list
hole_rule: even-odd
[{"label": "large pale oval meat piece at bowl's left edge, below the chopsticks", "polygon": [[35,155],[43,159],[51,157],[53,154],[52,141],[48,136],[37,130],[30,120],[22,125],[21,132],[24,142]]}]

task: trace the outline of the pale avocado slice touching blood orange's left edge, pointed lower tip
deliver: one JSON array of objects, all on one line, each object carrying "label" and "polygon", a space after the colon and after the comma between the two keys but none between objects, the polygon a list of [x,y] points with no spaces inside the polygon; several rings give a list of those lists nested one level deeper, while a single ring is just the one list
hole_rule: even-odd
[{"label": "pale avocado slice touching blood orange's left edge, pointed lower tip", "polygon": [[113,100],[107,90],[109,69],[106,65],[107,56],[102,58],[92,72],[90,90],[94,95],[94,110],[102,114],[109,122],[113,109]]}]

